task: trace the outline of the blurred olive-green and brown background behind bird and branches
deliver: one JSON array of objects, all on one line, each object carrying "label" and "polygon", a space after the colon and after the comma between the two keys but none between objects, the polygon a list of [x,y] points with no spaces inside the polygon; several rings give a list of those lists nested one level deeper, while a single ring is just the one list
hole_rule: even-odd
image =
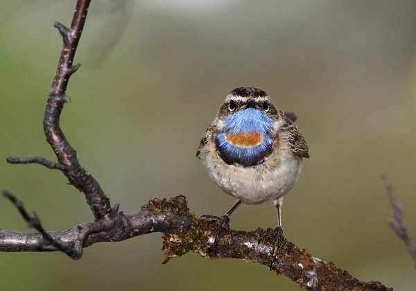
[{"label": "blurred olive-green and brown background behind bird and branches", "polygon": [[[11,166],[9,155],[53,159],[42,114],[74,1],[0,3],[0,188],[47,229],[92,219],[60,173]],[[286,237],[363,280],[415,290],[415,270],[390,231],[379,179],[395,184],[416,239],[416,2],[96,0],[71,78],[62,127],[112,203],[135,211],[186,195],[198,215],[234,201],[195,152],[228,91],[265,89],[297,112],[311,148],[283,209]],[[0,200],[1,228],[32,231]],[[275,227],[271,203],[241,206],[234,229]],[[244,261],[187,254],[162,265],[160,234],[85,250],[0,254],[1,290],[299,290]]]}]

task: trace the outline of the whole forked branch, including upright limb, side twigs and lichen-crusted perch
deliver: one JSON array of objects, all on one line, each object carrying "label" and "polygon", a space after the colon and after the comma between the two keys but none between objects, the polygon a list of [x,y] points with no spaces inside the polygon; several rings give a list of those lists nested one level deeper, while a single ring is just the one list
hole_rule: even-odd
[{"label": "whole forked branch, including upright limb, side twigs and lichen-crusted perch", "polygon": [[[140,211],[124,214],[119,205],[110,206],[96,179],[85,170],[60,128],[60,114],[69,78],[80,67],[72,65],[90,0],[78,0],[71,27],[59,22],[54,26],[62,35],[63,45],[58,69],[53,79],[44,112],[44,133],[58,159],[42,157],[8,158],[10,164],[37,163],[56,168],[69,182],[85,194],[95,220],[83,222],[63,231],[45,231],[35,213],[28,213],[23,204],[7,191],[3,195],[16,207],[28,224],[39,233],[18,233],[0,230],[0,252],[64,252],[73,259],[83,254],[83,248],[94,243],[117,242],[146,233],[163,233],[166,253],[164,263],[173,257],[196,252],[205,258],[240,258],[266,265],[277,274],[284,274],[308,290],[392,290],[378,282],[363,282],[333,263],[314,258],[304,249],[289,242],[281,229],[235,231],[218,217],[196,218],[184,196],[171,200],[151,200]],[[215,240],[218,233],[218,241]]]}]

